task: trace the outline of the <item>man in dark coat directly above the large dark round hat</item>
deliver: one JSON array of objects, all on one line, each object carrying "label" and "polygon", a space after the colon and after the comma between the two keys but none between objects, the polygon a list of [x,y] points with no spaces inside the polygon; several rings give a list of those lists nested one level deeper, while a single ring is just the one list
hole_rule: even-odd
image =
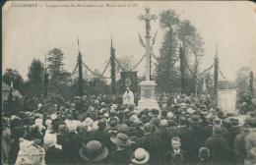
[{"label": "man in dark coat directly above the large dark round hat", "polygon": [[111,134],[105,130],[106,121],[104,119],[98,120],[97,126],[98,129],[93,133],[92,139],[99,141],[102,145],[110,149],[112,144],[110,141]]}]

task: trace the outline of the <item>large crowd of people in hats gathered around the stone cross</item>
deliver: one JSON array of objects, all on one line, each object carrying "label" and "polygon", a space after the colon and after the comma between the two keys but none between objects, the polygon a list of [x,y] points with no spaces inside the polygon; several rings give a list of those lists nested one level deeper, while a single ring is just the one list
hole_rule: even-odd
[{"label": "large crowd of people in hats gathered around the stone cross", "polygon": [[224,113],[211,97],[177,94],[138,110],[103,95],[37,98],[3,115],[5,164],[256,164],[256,115]]}]

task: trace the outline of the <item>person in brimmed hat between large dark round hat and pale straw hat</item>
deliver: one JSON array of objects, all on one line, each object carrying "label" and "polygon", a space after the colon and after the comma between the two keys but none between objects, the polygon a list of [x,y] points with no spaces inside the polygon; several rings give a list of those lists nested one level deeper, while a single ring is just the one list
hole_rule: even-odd
[{"label": "person in brimmed hat between large dark round hat and pale straw hat", "polygon": [[109,164],[128,164],[132,152],[128,148],[130,145],[129,138],[125,134],[117,134],[110,140],[116,145],[117,149],[112,151],[107,158]]}]

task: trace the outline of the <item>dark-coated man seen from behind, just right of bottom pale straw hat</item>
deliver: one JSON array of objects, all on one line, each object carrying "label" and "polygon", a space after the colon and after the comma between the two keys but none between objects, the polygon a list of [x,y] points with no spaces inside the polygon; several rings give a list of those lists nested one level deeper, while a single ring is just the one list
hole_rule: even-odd
[{"label": "dark-coated man seen from behind, just right of bottom pale straw hat", "polygon": [[152,134],[152,125],[146,123],[143,125],[144,136],[139,139],[138,145],[149,151],[151,155],[150,164],[160,164],[162,159],[162,146],[160,138]]}]

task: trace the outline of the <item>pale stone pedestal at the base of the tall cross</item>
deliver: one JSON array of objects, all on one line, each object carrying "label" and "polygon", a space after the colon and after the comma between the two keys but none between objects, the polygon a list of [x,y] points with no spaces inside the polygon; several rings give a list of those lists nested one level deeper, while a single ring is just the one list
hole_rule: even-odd
[{"label": "pale stone pedestal at the base of the tall cross", "polygon": [[141,99],[138,102],[138,110],[143,111],[145,108],[160,110],[159,103],[155,98],[155,86],[157,83],[154,81],[143,81],[139,83],[141,86]]}]

